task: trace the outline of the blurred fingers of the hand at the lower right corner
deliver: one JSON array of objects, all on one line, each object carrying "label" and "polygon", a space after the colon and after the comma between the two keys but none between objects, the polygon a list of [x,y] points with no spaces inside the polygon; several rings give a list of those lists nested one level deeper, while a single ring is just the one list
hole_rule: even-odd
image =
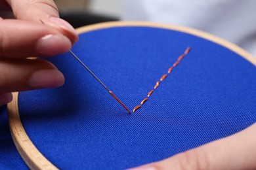
[{"label": "blurred fingers of the hand at the lower right corner", "polygon": [[135,169],[256,169],[256,124],[230,137]]}]

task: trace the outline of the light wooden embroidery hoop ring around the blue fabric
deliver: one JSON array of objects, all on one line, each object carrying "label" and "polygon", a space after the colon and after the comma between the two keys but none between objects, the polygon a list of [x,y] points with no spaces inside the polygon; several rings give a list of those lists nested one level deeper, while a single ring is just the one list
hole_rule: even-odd
[{"label": "light wooden embroidery hoop ring around the blue fabric", "polygon": [[[196,35],[197,37],[202,37],[203,39],[207,39],[209,41],[215,42],[236,52],[243,58],[247,59],[253,65],[256,66],[256,58],[251,56],[251,54],[245,52],[242,48],[232,44],[230,42],[224,41],[218,37],[210,35],[208,33],[204,33],[202,31],[198,31],[196,29],[190,29],[187,27],[180,27],[175,25],[167,25],[167,24],[156,24],[151,22],[106,22],[102,24],[94,24],[85,27],[81,27],[76,29],[77,33],[87,33],[89,31],[95,31],[97,29],[105,29],[110,27],[129,27],[129,26],[140,26],[140,27],[157,27],[163,29],[171,29],[174,31],[181,31],[184,33],[188,33],[191,35]],[[8,104],[8,115],[9,115],[9,126],[11,129],[12,139],[18,152],[22,156],[23,160],[26,162],[30,169],[58,169],[51,163],[47,158],[37,150],[37,148],[33,145],[32,141],[28,137],[24,127],[22,126],[22,122],[20,120],[19,111],[18,111],[18,92],[12,93],[13,100]]]}]

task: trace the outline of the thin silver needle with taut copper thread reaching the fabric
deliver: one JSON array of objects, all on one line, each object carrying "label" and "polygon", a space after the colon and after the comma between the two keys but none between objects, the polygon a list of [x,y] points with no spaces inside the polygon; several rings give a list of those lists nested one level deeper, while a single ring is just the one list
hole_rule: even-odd
[{"label": "thin silver needle with taut copper thread reaching the fabric", "polygon": [[129,114],[131,114],[131,111],[116,97],[116,95],[114,95],[113,92],[111,92],[107,86],[100,81],[100,79],[98,79],[98,77],[83,63],[83,61],[81,61],[81,59],[79,59],[74,52],[72,52],[72,50],[70,50],[70,54],[72,54],[72,56],[74,56],[75,59],[77,59],[77,61],[79,61],[79,63],[81,63],[81,65],[83,65],[83,67],[85,67],[85,69],[87,69],[87,71],[89,71],[89,73],[91,73],[91,75],[94,76],[94,78],[96,78],[96,80],[98,80],[98,82],[110,93],[110,95],[112,95],[112,97],[114,97],[114,99],[116,99],[116,101],[118,101],[118,103],[120,103],[122,105],[122,107],[127,110],[129,112]]}]

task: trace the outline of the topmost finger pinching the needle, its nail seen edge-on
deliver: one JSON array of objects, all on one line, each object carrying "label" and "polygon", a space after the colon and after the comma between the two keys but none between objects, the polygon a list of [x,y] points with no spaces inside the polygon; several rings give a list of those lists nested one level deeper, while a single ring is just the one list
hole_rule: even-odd
[{"label": "topmost finger pinching the needle, its nail seen edge-on", "polygon": [[53,0],[7,0],[12,8],[14,16],[18,20],[27,20],[51,25],[75,42],[78,39],[77,33],[72,25],[59,18],[58,8]]}]

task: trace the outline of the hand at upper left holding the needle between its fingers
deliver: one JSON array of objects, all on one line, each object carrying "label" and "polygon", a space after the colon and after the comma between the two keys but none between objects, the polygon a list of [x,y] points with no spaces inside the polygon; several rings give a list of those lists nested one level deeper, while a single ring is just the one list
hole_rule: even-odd
[{"label": "hand at upper left holding the needle between its fingers", "polygon": [[0,17],[0,105],[11,92],[61,86],[64,76],[53,64],[28,57],[67,52],[78,39],[52,0],[0,0],[0,14],[8,10],[16,19]]}]

